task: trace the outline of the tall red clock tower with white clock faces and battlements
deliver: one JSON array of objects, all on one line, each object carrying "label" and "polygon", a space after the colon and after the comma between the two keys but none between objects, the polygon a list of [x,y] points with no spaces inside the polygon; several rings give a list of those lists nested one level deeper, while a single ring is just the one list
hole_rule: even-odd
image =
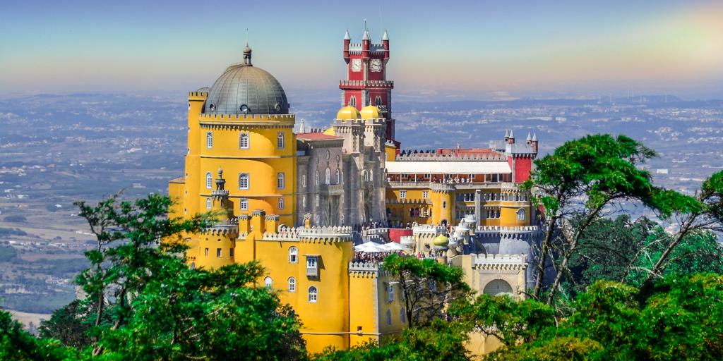
[{"label": "tall red clock tower with white clock faces and battlements", "polygon": [[344,61],[346,80],[339,82],[341,106],[351,105],[361,110],[367,105],[376,105],[387,119],[386,136],[394,139],[392,118],[392,89],[394,82],[387,80],[389,61],[389,37],[382,36],[381,44],[373,44],[369,30],[364,29],[361,43],[351,43],[349,32],[344,35]]}]

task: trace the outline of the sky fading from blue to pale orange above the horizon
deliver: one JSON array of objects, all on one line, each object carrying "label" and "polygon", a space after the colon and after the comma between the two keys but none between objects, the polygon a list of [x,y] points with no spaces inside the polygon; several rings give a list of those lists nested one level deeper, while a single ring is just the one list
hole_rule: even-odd
[{"label": "sky fading from blue to pale orange above the horizon", "polygon": [[241,61],[247,38],[254,66],[283,87],[332,92],[345,77],[344,31],[359,41],[366,19],[373,41],[388,30],[398,94],[723,98],[720,0],[27,0],[2,9],[4,97],[192,91]]}]

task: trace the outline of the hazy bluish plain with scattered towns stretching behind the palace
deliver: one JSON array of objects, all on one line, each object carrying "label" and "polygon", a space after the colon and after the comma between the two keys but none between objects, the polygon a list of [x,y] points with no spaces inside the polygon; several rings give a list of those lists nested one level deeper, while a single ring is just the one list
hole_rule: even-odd
[{"label": "hazy bluish plain with scattered towns stretching behind the palace", "polygon": [[[308,99],[305,99],[308,97]],[[312,99],[314,100],[312,103]],[[723,101],[672,95],[507,101],[395,100],[397,138],[417,149],[487,147],[512,129],[542,153],[589,133],[624,133],[659,152],[660,186],[693,191],[723,168]],[[325,127],[335,97],[291,94],[297,126]],[[308,102],[307,102],[308,100]],[[186,152],[184,96],[35,95],[0,100],[1,307],[47,314],[76,296],[92,237],[74,201],[167,191]]]}]

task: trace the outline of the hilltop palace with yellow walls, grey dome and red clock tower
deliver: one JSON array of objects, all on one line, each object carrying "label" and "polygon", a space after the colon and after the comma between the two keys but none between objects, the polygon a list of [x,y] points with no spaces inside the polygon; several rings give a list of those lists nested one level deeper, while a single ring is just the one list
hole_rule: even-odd
[{"label": "hilltop palace with yellow walls, grey dome and red clock tower", "polygon": [[252,63],[247,44],[213,85],[189,93],[184,175],[168,184],[171,217],[220,214],[185,235],[189,266],[259,261],[259,284],[294,308],[309,352],[406,327],[402,292],[378,258],[385,251],[461,267],[479,293],[524,297],[534,282],[539,214],[521,183],[536,135],[402,148],[389,36],[375,43],[365,29],[354,41],[346,32],[340,109],[320,129],[296,126],[281,83]]}]

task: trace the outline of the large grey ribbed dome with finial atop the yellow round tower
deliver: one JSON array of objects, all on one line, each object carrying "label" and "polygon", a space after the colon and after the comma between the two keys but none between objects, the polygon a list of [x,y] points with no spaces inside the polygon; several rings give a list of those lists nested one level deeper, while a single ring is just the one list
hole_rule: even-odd
[{"label": "large grey ribbed dome with finial atop the yellow round tower", "polygon": [[203,108],[209,114],[288,114],[286,92],[273,75],[251,64],[251,48],[244,61],[228,66],[208,90]]}]

